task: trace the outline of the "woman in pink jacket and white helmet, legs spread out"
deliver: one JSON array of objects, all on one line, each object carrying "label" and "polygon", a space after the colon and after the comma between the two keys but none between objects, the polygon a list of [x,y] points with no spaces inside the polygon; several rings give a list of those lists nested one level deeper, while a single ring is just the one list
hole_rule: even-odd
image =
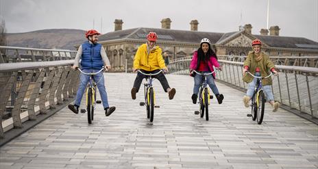
[{"label": "woman in pink jacket and white helmet, legs spread out", "polygon": [[[193,104],[197,103],[197,94],[202,83],[202,76],[194,73],[193,70],[201,73],[211,73],[214,70],[213,66],[221,70],[219,62],[217,62],[217,55],[212,51],[210,45],[211,42],[208,38],[202,39],[199,49],[195,51],[191,60],[190,73],[191,76],[195,78],[195,86],[193,87],[193,94],[191,97]],[[208,75],[206,78],[206,82],[210,86],[212,92],[217,96],[217,102],[221,104],[224,96],[223,94],[219,94],[219,90],[215,85],[215,73]]]}]

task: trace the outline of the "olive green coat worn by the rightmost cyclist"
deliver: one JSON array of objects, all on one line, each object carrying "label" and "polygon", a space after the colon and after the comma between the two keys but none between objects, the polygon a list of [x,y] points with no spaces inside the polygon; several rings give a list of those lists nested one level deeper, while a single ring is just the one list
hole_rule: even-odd
[{"label": "olive green coat worn by the rightmost cyclist", "polygon": [[[250,51],[244,62],[243,68],[245,66],[248,66],[249,72],[254,75],[255,70],[258,67],[260,68],[260,75],[262,77],[267,77],[270,73],[271,68],[275,68],[275,65],[273,64],[273,62],[271,62],[271,59],[269,59],[269,55],[263,52],[261,52],[260,55],[262,55],[262,57],[260,57],[260,60],[256,60],[256,55],[253,51]],[[245,75],[243,75],[243,81],[245,81],[246,83],[251,83],[253,79],[254,77],[252,77],[248,73],[245,73]],[[271,77],[262,79],[262,86],[267,86],[271,84]]]}]

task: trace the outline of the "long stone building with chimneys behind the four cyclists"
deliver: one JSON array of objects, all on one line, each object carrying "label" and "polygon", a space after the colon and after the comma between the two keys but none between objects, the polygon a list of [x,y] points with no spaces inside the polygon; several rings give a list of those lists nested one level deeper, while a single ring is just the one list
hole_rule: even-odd
[{"label": "long stone building with chimneys behind the four cyclists", "polygon": [[306,38],[279,36],[280,28],[273,26],[269,30],[261,29],[260,35],[252,34],[252,25],[247,24],[238,31],[216,33],[198,31],[198,21],[190,22],[190,30],[171,28],[171,19],[164,18],[161,28],[137,27],[122,29],[123,21],[114,21],[114,30],[99,36],[99,43],[106,49],[113,70],[132,69],[134,55],[140,46],[147,42],[149,31],[158,34],[158,46],[167,52],[170,60],[191,56],[199,48],[202,38],[209,38],[217,55],[247,55],[251,51],[251,43],[259,38],[264,43],[263,49],[271,56],[309,56],[318,55],[318,42]]}]

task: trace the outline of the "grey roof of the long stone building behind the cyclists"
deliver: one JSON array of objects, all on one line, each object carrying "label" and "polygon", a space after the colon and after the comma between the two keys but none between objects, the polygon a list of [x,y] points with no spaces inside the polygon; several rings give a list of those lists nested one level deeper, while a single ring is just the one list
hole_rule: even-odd
[{"label": "grey roof of the long stone building behind the cyclists", "polygon": [[[228,33],[216,33],[207,31],[186,31],[176,29],[138,27],[134,29],[108,32],[107,34],[103,34],[102,36],[100,36],[99,41],[121,39],[146,40],[146,36],[150,31],[155,31],[157,33],[159,41],[199,44],[199,41],[202,38],[208,38],[210,39],[212,44],[221,44],[222,42],[226,42],[227,40],[236,38],[236,36],[241,36],[244,30],[232,31]],[[263,35],[250,36],[259,38],[260,40],[262,40],[262,42],[269,45],[269,47],[318,50],[318,42],[306,38]]]}]

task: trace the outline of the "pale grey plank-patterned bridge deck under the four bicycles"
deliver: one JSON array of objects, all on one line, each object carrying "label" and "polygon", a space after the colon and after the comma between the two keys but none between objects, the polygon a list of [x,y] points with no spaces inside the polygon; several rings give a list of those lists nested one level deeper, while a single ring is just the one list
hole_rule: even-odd
[{"label": "pale grey plank-patterned bridge deck under the four bicycles", "polygon": [[[4,168],[317,168],[318,127],[294,114],[266,105],[257,125],[243,107],[243,92],[217,83],[223,104],[213,99],[210,120],[194,114],[193,78],[167,75],[176,88],[169,101],[155,81],[154,122],[130,98],[135,75],[106,74],[109,117],[101,105],[92,125],[86,114],[64,108],[0,148]],[[142,88],[140,88],[142,89]]]}]

